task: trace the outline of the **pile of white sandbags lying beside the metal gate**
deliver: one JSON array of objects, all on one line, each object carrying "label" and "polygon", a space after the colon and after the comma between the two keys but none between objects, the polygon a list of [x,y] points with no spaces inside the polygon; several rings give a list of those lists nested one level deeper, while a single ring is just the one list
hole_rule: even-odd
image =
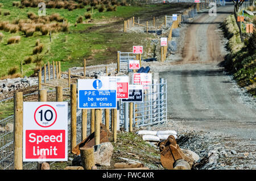
[{"label": "pile of white sandbags lying beside the metal gate", "polygon": [[164,141],[168,138],[168,136],[173,135],[175,139],[177,139],[177,132],[174,130],[166,130],[166,131],[148,131],[141,130],[138,131],[137,134],[142,136],[142,140],[144,141]]}]

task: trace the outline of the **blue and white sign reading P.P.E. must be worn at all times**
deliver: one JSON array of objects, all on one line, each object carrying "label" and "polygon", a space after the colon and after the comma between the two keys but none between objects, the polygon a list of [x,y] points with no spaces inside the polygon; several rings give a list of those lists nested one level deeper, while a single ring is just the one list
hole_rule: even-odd
[{"label": "blue and white sign reading P.P.E. must be worn at all times", "polygon": [[79,109],[117,108],[117,85],[108,79],[78,79]]}]

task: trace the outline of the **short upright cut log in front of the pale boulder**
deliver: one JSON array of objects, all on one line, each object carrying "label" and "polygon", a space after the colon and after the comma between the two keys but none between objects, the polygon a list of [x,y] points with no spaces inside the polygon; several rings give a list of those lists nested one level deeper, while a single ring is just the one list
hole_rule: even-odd
[{"label": "short upright cut log in front of the pale boulder", "polygon": [[82,167],[84,170],[92,170],[94,164],[94,147],[82,146],[80,149]]}]

